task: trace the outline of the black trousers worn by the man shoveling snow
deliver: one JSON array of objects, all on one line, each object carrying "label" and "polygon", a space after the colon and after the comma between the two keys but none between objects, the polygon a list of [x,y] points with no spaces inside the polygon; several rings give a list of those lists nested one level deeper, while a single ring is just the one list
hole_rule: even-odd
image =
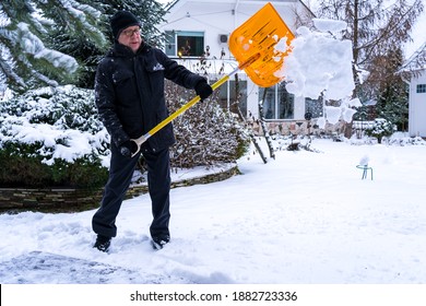
[{"label": "black trousers worn by the man shoveling snow", "polygon": [[[92,219],[92,227],[96,234],[107,237],[117,235],[116,217],[129,189],[140,154],[132,158],[125,157],[119,153],[118,148],[111,143],[109,178],[105,185],[100,208]],[[169,236],[169,151],[168,149],[159,152],[146,151],[143,152],[143,157],[147,166],[147,186],[152,201],[153,221],[150,226],[150,233],[152,237]]]}]

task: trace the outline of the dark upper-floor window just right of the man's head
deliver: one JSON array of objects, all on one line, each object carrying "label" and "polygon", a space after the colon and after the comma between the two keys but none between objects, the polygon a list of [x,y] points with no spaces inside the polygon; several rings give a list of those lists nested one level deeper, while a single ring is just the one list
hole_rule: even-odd
[{"label": "dark upper-floor window just right of the man's head", "polygon": [[200,57],[204,54],[204,32],[166,31],[166,55]]}]

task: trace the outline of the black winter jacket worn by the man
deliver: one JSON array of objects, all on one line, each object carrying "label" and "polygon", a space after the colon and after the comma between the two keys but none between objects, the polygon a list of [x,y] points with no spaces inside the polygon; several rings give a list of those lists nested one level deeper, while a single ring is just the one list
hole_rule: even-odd
[{"label": "black winter jacket worn by the man", "polygon": [[[141,137],[167,118],[165,78],[186,89],[194,89],[205,81],[144,43],[134,54],[116,42],[100,61],[95,80],[95,102],[117,146]],[[142,151],[158,151],[174,144],[171,123],[151,137],[147,143],[142,145]]]}]

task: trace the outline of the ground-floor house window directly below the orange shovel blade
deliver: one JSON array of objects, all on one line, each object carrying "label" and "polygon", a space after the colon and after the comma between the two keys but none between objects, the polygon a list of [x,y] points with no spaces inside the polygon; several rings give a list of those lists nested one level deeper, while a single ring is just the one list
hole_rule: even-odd
[{"label": "ground-floor house window directly below the orange shovel blade", "polygon": [[294,95],[285,90],[285,82],[269,89],[259,89],[259,99],[263,101],[265,119],[294,118]]}]

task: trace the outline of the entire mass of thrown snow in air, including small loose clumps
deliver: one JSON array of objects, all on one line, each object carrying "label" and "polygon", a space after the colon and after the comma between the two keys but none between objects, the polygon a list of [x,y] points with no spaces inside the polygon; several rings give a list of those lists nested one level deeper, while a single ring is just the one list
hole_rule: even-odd
[{"label": "entire mass of thrown snow in air, including small loose clumps", "polygon": [[[320,120],[326,125],[335,123],[339,119],[351,121],[356,113],[348,103],[355,89],[352,62],[352,42],[339,39],[339,32],[346,27],[344,22],[313,20],[321,31],[310,31],[306,26],[297,30],[297,36],[288,47],[292,51],[284,58],[283,67],[275,76],[287,82],[286,90],[295,96],[341,102],[339,107],[326,106],[327,118]],[[286,39],[275,45],[276,52],[282,56],[287,51]],[[357,105],[359,106],[359,105]],[[322,125],[321,125],[322,126]]]}]

